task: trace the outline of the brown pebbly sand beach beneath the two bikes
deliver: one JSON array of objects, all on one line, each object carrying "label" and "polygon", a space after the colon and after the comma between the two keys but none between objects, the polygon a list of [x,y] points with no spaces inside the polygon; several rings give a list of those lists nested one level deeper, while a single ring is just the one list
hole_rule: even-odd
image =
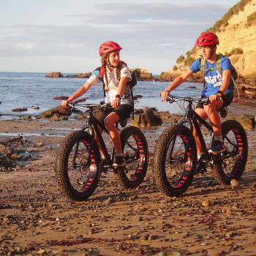
[{"label": "brown pebbly sand beach beneath the two bikes", "polygon": [[[234,103],[230,115],[255,113],[240,107]],[[221,187],[208,168],[183,196],[165,197],[149,164],[137,189],[122,190],[113,173],[103,173],[88,201],[72,203],[59,192],[54,163],[64,135],[81,126],[0,121],[0,142],[22,136],[12,142],[20,152],[16,167],[0,173],[0,255],[256,255],[255,128],[247,131],[249,157],[238,187]],[[165,127],[142,129],[150,161]]]}]

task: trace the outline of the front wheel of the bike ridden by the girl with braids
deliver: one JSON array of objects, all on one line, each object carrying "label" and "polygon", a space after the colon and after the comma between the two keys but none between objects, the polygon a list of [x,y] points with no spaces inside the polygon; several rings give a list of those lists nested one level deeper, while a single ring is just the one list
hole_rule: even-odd
[{"label": "front wheel of the bike ridden by the girl with braids", "polygon": [[86,200],[97,188],[100,154],[88,132],[69,133],[61,143],[56,159],[56,181],[61,192],[75,201]]}]

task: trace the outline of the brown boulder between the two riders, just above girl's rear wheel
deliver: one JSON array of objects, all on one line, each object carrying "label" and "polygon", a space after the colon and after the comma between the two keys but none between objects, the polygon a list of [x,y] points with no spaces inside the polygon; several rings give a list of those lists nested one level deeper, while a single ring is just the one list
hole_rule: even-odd
[{"label": "brown boulder between the two riders, just above girl's rear wheel", "polygon": [[152,110],[146,110],[144,113],[135,116],[132,125],[135,127],[154,127],[162,125],[162,119],[156,116]]}]

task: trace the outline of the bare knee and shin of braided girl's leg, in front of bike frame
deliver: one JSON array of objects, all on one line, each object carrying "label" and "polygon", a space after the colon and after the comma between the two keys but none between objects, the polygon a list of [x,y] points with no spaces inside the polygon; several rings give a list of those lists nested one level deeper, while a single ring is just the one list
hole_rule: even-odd
[{"label": "bare knee and shin of braided girl's leg, in front of bike frame", "polygon": [[121,140],[118,129],[116,128],[116,123],[119,121],[119,116],[116,112],[111,112],[105,119],[104,124],[108,129],[110,139],[113,146],[116,148],[116,154],[123,154],[121,149]]}]

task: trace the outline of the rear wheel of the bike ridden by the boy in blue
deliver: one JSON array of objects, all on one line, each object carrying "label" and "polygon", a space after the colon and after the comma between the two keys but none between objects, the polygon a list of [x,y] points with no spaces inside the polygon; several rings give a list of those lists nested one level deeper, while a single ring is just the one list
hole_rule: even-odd
[{"label": "rear wheel of the bike ridden by the boy in blue", "polygon": [[230,185],[232,179],[238,181],[244,172],[248,157],[246,132],[238,121],[227,120],[222,123],[222,135],[227,150],[217,154],[217,164],[212,172],[219,184]]}]

